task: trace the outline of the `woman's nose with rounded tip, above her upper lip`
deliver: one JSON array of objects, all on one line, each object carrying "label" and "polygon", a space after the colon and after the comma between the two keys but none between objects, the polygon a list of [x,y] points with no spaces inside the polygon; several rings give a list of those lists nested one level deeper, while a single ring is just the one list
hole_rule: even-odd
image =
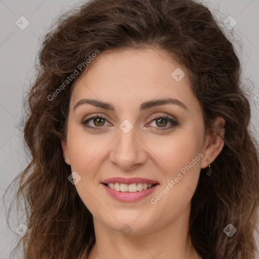
[{"label": "woman's nose with rounded tip, above her upper lip", "polygon": [[133,170],[147,161],[147,146],[136,135],[135,127],[128,133],[118,130],[109,160],[121,170]]}]

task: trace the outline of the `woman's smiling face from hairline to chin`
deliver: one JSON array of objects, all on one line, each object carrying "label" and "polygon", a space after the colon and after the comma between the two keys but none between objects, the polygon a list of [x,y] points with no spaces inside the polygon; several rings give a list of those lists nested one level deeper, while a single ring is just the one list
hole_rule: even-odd
[{"label": "woman's smiling face from hairline to chin", "polygon": [[147,233],[188,217],[200,169],[223,145],[209,142],[184,68],[153,49],[92,62],[74,84],[62,148],[94,222]]}]

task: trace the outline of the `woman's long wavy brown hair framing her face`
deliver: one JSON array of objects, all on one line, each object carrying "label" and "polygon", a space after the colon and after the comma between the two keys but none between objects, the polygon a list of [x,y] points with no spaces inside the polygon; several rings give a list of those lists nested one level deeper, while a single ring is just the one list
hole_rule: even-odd
[{"label": "woman's long wavy brown hair framing her face", "polygon": [[[209,9],[191,0],[94,0],[54,25],[42,41],[26,100],[24,139],[31,160],[15,179],[30,229],[18,243],[24,258],[81,258],[95,243],[92,214],[68,181],[71,168],[62,155],[71,87],[79,75],[71,82],[67,77],[96,50],[148,47],[167,52],[185,68],[206,129],[217,116],[226,121],[224,148],[211,164],[210,177],[201,169],[192,198],[192,244],[203,259],[253,258],[258,144],[249,130],[239,58]],[[228,224],[237,229],[232,237],[224,233]]]}]

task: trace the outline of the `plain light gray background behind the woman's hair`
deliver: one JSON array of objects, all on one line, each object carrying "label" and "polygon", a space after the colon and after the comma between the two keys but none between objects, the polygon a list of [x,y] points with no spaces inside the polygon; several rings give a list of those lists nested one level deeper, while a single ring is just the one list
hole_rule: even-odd
[{"label": "plain light gray background behind the woman's hair", "polygon": [[[28,157],[23,150],[20,135],[22,97],[34,76],[34,63],[40,38],[48,30],[52,20],[80,1],[68,0],[0,0],[0,159],[2,164],[0,196],[14,177],[26,166]],[[218,18],[222,27],[234,40],[243,66],[243,82],[248,85],[252,103],[251,129],[258,140],[259,113],[259,0],[211,0],[203,1]],[[16,21],[25,16],[29,25],[21,30]],[[224,21],[232,16],[237,25],[229,30]],[[233,32],[233,35],[230,34]],[[240,47],[241,45],[241,47]],[[242,52],[241,52],[242,51]],[[11,230],[6,224],[6,208],[0,203],[0,259],[8,258],[20,237],[16,228],[24,221],[10,219]],[[259,246],[259,242],[258,242]],[[258,257],[259,258],[259,257]]]}]

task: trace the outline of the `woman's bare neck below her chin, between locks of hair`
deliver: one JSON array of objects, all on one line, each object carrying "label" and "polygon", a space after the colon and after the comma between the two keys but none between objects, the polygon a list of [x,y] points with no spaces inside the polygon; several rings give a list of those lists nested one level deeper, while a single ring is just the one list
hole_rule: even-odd
[{"label": "woman's bare neck below her chin, between locks of hair", "polygon": [[[94,218],[96,242],[88,259],[200,259],[188,235],[190,206],[169,225],[123,235]],[[128,224],[133,226],[134,224]]]}]

